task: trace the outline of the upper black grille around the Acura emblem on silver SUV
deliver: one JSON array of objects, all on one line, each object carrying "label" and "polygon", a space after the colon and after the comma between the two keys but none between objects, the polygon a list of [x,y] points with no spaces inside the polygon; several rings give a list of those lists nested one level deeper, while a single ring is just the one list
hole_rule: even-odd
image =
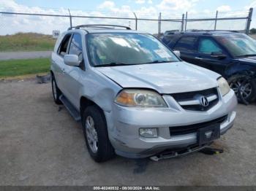
[{"label": "upper black grille around the Acura emblem on silver SUV", "polygon": [[194,101],[197,100],[197,96],[211,96],[211,95],[216,95],[217,98],[214,99],[213,101],[210,101],[208,103],[208,106],[201,106],[200,104],[188,104],[188,105],[182,105],[181,107],[183,109],[187,110],[192,110],[192,111],[208,111],[208,109],[211,109],[213,106],[215,106],[218,101],[219,101],[219,94],[217,91],[217,88],[211,88],[207,90],[200,90],[200,91],[193,91],[193,92],[186,92],[186,93],[173,93],[172,96],[173,98],[179,103],[182,101]]}]

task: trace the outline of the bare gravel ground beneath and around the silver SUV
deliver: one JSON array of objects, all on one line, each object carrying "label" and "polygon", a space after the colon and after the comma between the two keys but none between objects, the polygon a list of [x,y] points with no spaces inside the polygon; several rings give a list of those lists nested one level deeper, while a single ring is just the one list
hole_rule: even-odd
[{"label": "bare gravel ground beneath and around the silver SUV", "polygon": [[256,105],[239,105],[236,124],[196,152],[154,162],[116,157],[94,163],[80,124],[53,104],[50,84],[0,82],[0,185],[256,185]]}]

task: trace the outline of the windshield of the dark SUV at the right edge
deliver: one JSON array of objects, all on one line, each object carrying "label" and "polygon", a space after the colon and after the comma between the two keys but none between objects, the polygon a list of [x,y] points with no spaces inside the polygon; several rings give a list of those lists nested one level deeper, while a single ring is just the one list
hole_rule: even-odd
[{"label": "windshield of the dark SUV at the right edge", "polygon": [[231,34],[216,38],[234,57],[256,55],[256,41],[246,34]]}]

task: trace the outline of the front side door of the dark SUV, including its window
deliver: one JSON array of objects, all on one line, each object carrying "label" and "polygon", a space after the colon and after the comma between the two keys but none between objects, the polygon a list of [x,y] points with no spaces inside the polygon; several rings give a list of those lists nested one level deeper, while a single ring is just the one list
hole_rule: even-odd
[{"label": "front side door of the dark SUV, including its window", "polygon": [[[218,58],[213,54],[226,55]],[[201,36],[197,44],[197,65],[224,75],[231,58],[225,49],[211,36]]]}]

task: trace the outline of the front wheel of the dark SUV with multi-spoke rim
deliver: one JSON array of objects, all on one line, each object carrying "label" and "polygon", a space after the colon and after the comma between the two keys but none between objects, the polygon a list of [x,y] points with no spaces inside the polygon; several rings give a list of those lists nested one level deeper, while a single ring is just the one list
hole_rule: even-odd
[{"label": "front wheel of the dark SUV with multi-spoke rim", "polygon": [[[234,75],[227,79],[230,88],[234,90],[238,101],[252,103],[256,98],[256,81],[246,75]],[[243,96],[243,98],[241,98]],[[244,101],[243,101],[244,100]]]}]

